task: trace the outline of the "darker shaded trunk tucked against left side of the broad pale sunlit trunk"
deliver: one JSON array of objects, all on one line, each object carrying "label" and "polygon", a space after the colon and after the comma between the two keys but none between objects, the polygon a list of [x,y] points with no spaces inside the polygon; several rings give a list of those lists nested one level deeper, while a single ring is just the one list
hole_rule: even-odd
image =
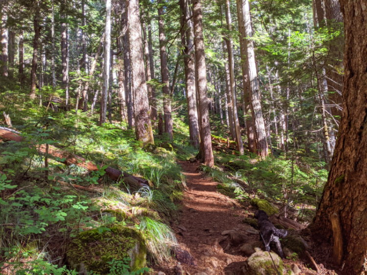
[{"label": "darker shaded trunk tucked against left side of the broad pale sunlit trunk", "polygon": [[248,59],[246,50],[246,32],[245,32],[245,21],[243,16],[243,0],[236,0],[237,5],[237,18],[238,18],[238,31],[239,31],[239,42],[240,42],[240,54],[241,54],[241,68],[242,68],[242,86],[243,86],[243,97],[242,106],[244,112],[244,122],[246,125],[246,134],[248,141],[248,148],[250,152],[256,152],[255,144],[255,133],[253,125],[253,116],[251,109],[251,94],[249,90],[249,76],[248,76]]}]

